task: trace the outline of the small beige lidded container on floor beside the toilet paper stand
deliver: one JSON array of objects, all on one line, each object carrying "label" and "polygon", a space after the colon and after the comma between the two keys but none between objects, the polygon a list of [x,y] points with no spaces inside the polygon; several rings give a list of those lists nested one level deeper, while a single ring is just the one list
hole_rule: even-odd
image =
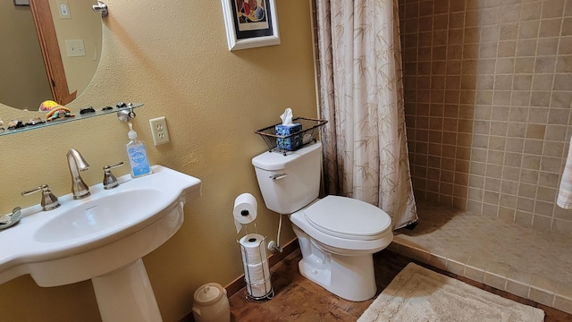
[{"label": "small beige lidded container on floor beside the toilet paper stand", "polygon": [[204,284],[195,291],[195,322],[230,322],[231,306],[226,290],[217,283]]}]

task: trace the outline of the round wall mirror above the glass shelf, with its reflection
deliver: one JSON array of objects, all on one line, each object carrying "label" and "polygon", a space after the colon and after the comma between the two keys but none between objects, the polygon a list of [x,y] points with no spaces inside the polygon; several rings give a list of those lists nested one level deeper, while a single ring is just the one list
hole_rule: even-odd
[{"label": "round wall mirror above the glass shelf, with its reflection", "polygon": [[45,100],[66,105],[86,89],[101,53],[101,15],[93,12],[93,4],[93,0],[30,0],[30,6],[0,2],[2,24],[12,26],[0,29],[1,103],[37,111]]}]

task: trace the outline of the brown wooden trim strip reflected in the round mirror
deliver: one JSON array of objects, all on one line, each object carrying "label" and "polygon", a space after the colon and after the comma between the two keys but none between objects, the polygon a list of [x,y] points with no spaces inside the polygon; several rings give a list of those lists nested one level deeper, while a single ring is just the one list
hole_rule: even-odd
[{"label": "brown wooden trim strip reflected in the round mirror", "polygon": [[44,57],[52,96],[56,102],[64,106],[77,97],[77,91],[70,93],[68,88],[49,1],[29,0],[29,7],[38,33],[39,47]]}]

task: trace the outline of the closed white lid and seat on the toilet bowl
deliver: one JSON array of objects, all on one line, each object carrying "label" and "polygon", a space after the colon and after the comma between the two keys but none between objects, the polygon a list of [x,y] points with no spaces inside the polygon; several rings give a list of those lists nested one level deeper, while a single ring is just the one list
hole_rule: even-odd
[{"label": "closed white lid and seat on the toilet bowl", "polygon": [[364,201],[339,196],[320,199],[305,211],[315,229],[332,236],[371,241],[391,228],[391,217]]}]

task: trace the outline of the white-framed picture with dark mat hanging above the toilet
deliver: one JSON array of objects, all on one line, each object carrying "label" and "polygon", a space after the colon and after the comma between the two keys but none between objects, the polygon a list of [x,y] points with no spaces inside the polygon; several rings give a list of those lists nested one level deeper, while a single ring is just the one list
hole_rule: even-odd
[{"label": "white-framed picture with dark mat hanging above the toilet", "polygon": [[229,50],[280,45],[275,0],[221,0]]}]

